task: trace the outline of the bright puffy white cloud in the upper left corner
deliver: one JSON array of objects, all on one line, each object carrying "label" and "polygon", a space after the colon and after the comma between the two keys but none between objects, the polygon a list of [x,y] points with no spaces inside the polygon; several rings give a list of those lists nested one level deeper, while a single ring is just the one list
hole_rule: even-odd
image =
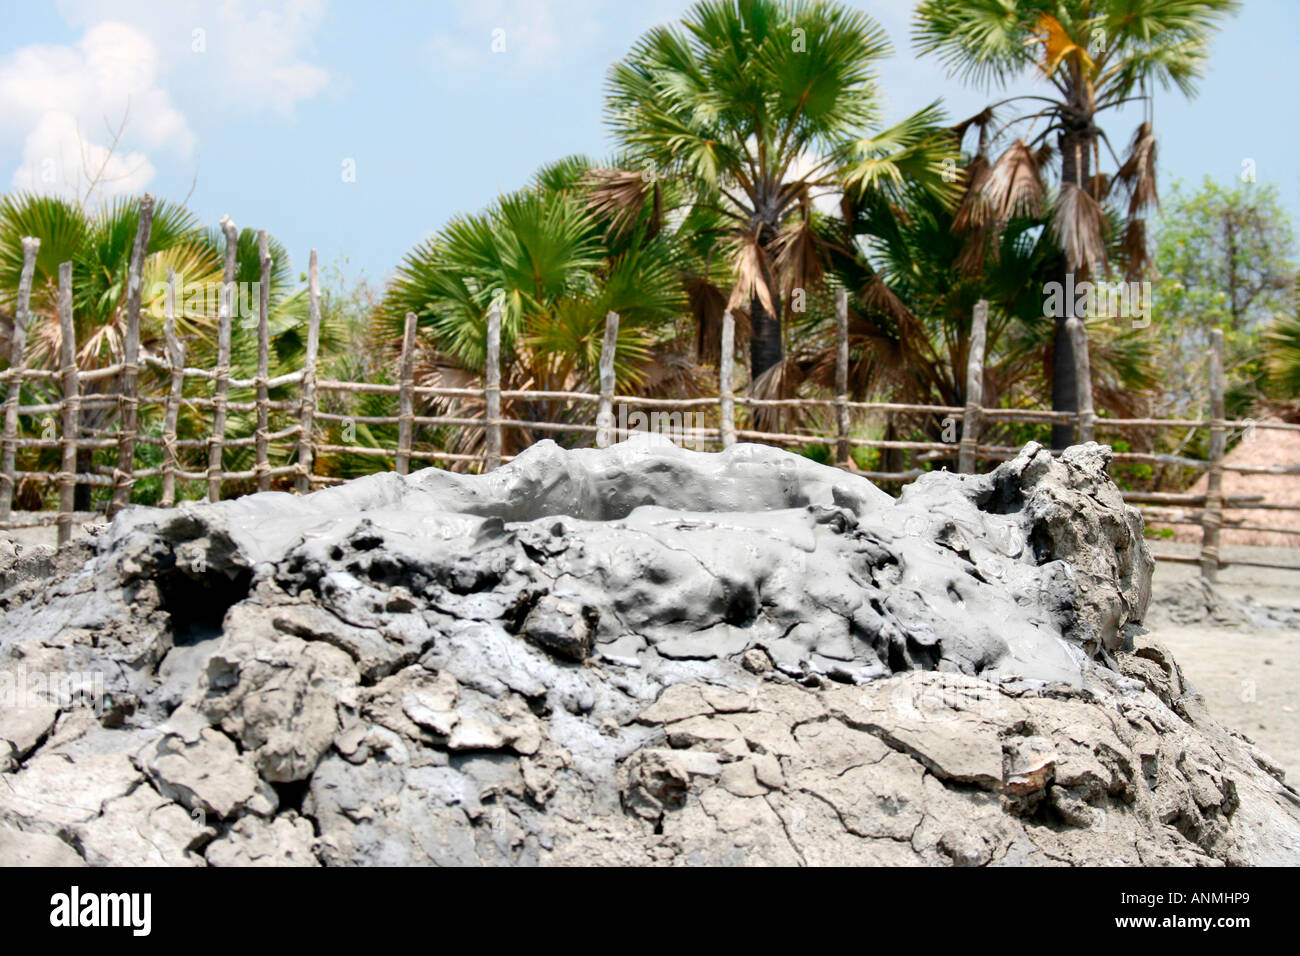
[{"label": "bright puffy white cloud in the upper left corner", "polygon": [[[17,189],[105,199],[153,178],[150,156],[187,159],[196,137],[177,105],[290,114],[330,82],[309,61],[320,0],[247,9],[173,0],[64,0],[74,44],[0,57],[0,142],[22,142]],[[120,137],[120,139],[118,139]]]}]

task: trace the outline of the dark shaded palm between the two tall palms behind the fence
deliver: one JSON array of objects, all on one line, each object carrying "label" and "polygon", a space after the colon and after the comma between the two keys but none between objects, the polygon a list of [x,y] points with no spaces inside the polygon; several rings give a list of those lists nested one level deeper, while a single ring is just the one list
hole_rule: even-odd
[{"label": "dark shaded palm between the two tall palms behind the fence", "polygon": [[[978,272],[963,265],[968,237],[954,221],[954,211],[914,195],[906,203],[845,203],[844,219],[827,222],[831,272],[845,286],[862,290],[850,300],[850,341],[870,343],[853,350],[861,354],[850,365],[858,395],[884,392],[909,403],[965,405],[971,313],[980,299],[991,304],[985,405],[996,407],[1004,397],[1031,402],[1046,380],[1052,336],[1041,321],[1040,290],[1057,254],[1043,220],[1009,221]],[[866,248],[857,241],[863,235],[872,237]],[[1095,336],[1097,406],[1135,411],[1138,390],[1153,381],[1141,337],[1127,329]],[[820,377],[829,384],[829,343],[815,355]]]}]

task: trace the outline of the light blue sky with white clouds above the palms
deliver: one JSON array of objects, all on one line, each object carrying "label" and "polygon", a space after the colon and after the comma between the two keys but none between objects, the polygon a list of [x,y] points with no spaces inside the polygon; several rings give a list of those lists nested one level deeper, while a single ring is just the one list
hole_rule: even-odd
[{"label": "light blue sky with white clouds above the palms", "polygon": [[[881,66],[889,118],[939,98],[954,118],[989,101],[913,56],[911,0],[853,5],[894,42]],[[608,65],[688,7],[0,0],[0,190],[74,191],[84,169],[103,168],[107,191],[190,195],[208,222],[230,213],[269,229],[299,269],[316,246],[326,264],[346,260],[350,280],[381,281],[450,216],[541,164],[606,155]],[[1300,131],[1284,105],[1297,36],[1300,3],[1247,0],[1214,43],[1199,98],[1158,96],[1162,187],[1231,182],[1252,160],[1300,216]],[[1117,146],[1135,122],[1112,114]]]}]

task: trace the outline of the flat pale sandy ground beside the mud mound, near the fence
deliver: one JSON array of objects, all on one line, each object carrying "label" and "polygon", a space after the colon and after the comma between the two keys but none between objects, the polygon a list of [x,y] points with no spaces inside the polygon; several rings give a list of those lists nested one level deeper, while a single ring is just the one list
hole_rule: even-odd
[{"label": "flat pale sandy ground beside the mud mound, near the fence", "polygon": [[[77,528],[74,535],[84,532]],[[17,544],[53,545],[55,528],[0,532]],[[1152,542],[1156,551],[1196,554],[1196,545]],[[1287,607],[1300,619],[1300,548],[1228,546],[1223,557],[1292,564],[1294,571],[1227,567],[1219,572],[1221,593],[1234,601]],[[1199,574],[1192,564],[1156,562],[1153,597]],[[1149,615],[1152,633],[1174,653],[1184,678],[1205,697],[1210,713],[1244,734],[1300,784],[1300,626],[1214,627],[1171,624]]]}]

